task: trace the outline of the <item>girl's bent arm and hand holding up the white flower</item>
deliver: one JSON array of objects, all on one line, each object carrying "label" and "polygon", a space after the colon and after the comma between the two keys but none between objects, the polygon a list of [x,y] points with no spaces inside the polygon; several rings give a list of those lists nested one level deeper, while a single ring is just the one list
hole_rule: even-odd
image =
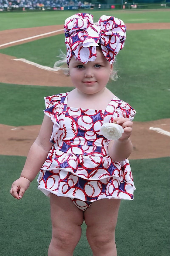
[{"label": "girl's bent arm and hand holding up the white flower", "polygon": [[108,151],[110,157],[114,161],[123,161],[126,159],[132,151],[132,143],[130,140],[130,136],[132,133],[132,125],[133,123],[129,121],[128,118],[124,117],[117,117],[114,118],[117,124],[121,125],[124,129],[124,133],[118,140],[111,140],[108,145]]}]

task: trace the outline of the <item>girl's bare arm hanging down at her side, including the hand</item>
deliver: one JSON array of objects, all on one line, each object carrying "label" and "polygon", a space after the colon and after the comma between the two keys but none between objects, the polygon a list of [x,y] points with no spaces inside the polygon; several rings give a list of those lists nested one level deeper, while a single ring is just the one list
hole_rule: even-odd
[{"label": "girl's bare arm hanging down at her side, including the hand", "polygon": [[29,150],[21,176],[18,180],[14,181],[10,190],[11,195],[18,200],[22,198],[25,190],[29,187],[30,182],[35,179],[41,166],[46,160],[48,152],[52,146],[51,142],[49,142],[52,129],[53,122],[45,115],[39,135]]}]

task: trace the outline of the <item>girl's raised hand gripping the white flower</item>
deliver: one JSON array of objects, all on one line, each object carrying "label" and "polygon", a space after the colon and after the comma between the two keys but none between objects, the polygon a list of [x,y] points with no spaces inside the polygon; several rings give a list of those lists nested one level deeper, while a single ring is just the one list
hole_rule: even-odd
[{"label": "girl's raised hand gripping the white flower", "polygon": [[121,125],[124,129],[124,133],[122,133],[122,136],[119,140],[127,140],[131,136],[133,123],[127,117],[116,117],[114,118],[113,123],[114,122]]}]

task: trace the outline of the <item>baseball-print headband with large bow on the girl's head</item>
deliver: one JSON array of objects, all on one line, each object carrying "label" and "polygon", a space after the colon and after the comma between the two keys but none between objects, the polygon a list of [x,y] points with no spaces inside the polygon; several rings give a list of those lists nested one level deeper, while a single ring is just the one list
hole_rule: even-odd
[{"label": "baseball-print headband with large bow on the girl's head", "polygon": [[68,66],[72,56],[84,64],[94,61],[99,44],[105,58],[112,64],[126,39],[124,22],[106,15],[94,24],[93,15],[77,13],[65,20],[64,30]]}]

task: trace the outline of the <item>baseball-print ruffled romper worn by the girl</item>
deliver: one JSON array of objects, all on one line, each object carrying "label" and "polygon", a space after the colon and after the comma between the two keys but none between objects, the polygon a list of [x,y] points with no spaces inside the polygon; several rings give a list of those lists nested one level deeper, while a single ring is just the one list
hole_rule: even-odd
[{"label": "baseball-print ruffled romper worn by the girl", "polygon": [[82,211],[103,198],[133,200],[135,190],[128,159],[114,162],[103,123],[116,117],[134,119],[135,110],[116,96],[105,110],[67,107],[68,93],[45,97],[44,113],[53,121],[52,148],[42,165],[38,189],[69,197]]}]

